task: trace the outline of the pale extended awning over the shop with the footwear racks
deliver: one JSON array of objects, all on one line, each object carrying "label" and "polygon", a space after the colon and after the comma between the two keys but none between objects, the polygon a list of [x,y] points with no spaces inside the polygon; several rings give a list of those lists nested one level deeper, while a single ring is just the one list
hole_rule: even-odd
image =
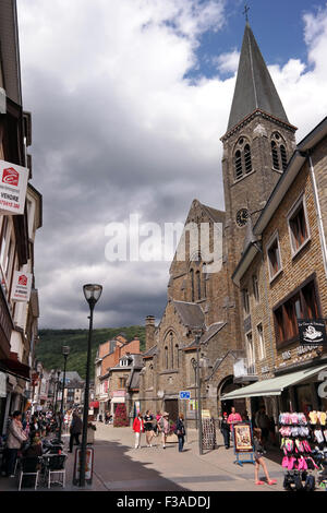
[{"label": "pale extended awning over the shop with the footwear racks", "polygon": [[327,363],[311,369],[299,370],[290,374],[279,375],[270,380],[257,381],[243,389],[234,390],[220,397],[221,401],[240,399],[245,397],[266,397],[272,395],[281,395],[281,392],[288,386],[302,383],[318,374],[322,370],[327,369]]}]

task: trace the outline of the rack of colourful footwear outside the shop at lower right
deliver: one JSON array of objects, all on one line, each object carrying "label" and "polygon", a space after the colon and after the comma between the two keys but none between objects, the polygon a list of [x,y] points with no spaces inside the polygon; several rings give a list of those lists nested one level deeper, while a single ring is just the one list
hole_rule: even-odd
[{"label": "rack of colourful footwear outside the shop at lower right", "polygon": [[317,482],[327,482],[327,428],[325,411],[282,413],[279,416],[282,467],[286,490],[315,489],[314,470],[320,470]]}]

